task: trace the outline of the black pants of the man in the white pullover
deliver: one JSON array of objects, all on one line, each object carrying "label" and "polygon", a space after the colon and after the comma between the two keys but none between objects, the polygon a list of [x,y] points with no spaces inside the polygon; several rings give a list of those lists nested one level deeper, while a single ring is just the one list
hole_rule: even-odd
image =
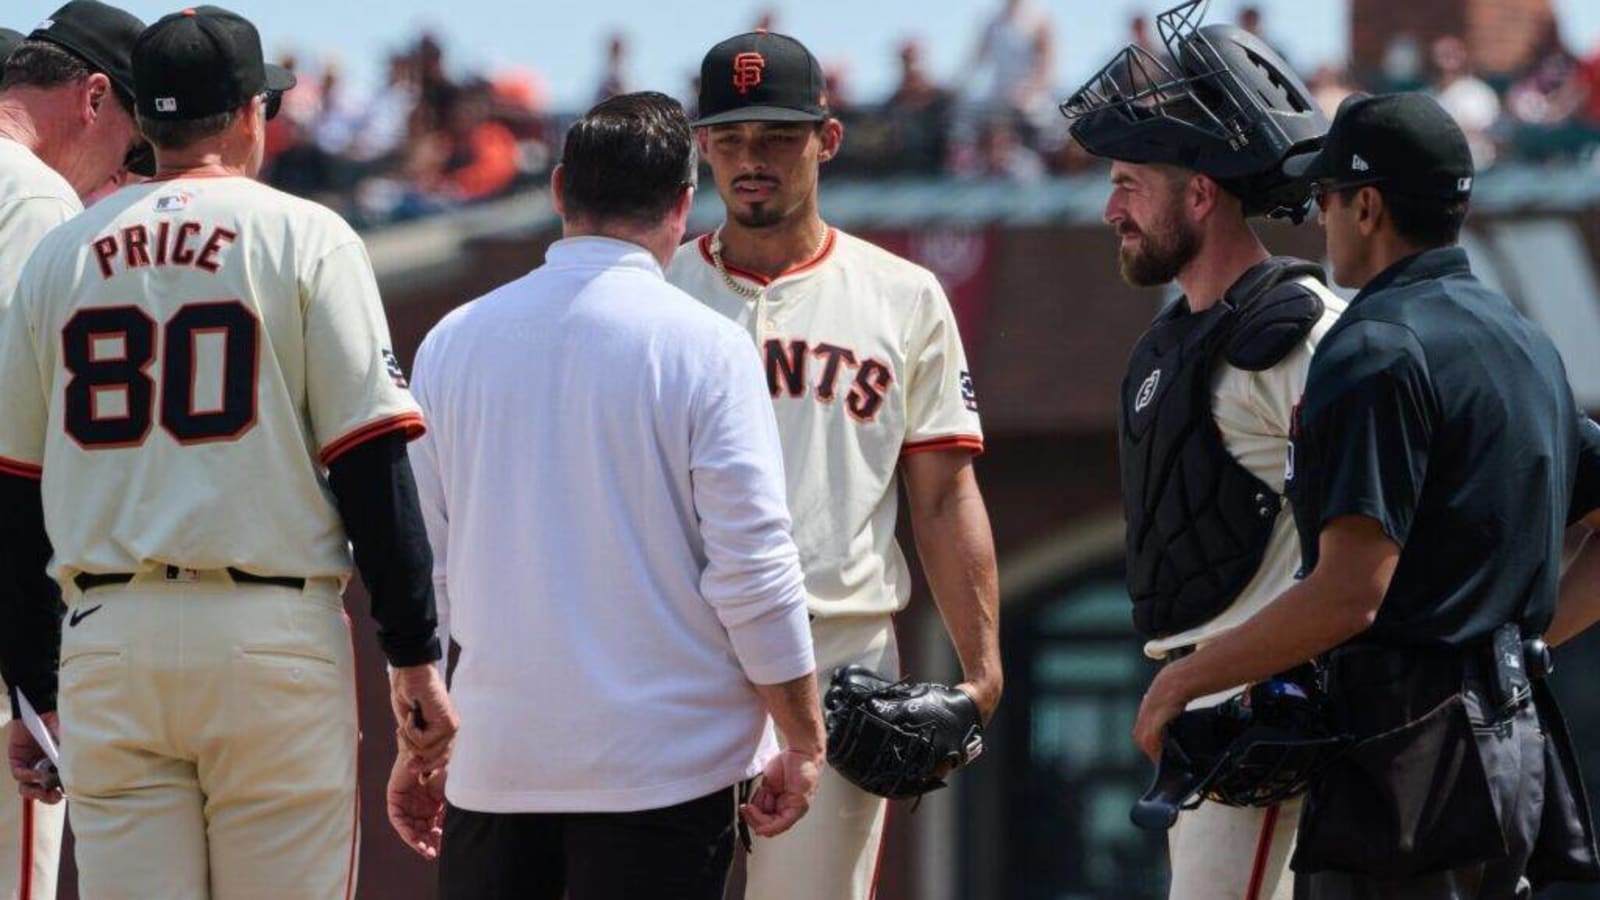
[{"label": "black pants of the man in the white pullover", "polygon": [[734,788],[610,814],[445,810],[440,900],[722,900]]}]

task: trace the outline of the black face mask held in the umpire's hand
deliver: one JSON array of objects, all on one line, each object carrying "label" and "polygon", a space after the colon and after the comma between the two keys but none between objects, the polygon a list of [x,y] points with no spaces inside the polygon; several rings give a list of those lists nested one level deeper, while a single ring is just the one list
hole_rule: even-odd
[{"label": "black face mask held in the umpire's hand", "polygon": [[1350,738],[1338,733],[1318,673],[1301,666],[1166,727],[1150,790],[1133,823],[1165,830],[1200,801],[1272,806],[1306,791]]}]

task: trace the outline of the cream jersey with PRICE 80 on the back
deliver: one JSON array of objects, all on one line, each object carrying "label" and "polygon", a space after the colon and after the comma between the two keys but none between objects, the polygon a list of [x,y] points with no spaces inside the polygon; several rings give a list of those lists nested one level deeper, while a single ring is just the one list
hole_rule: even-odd
[{"label": "cream jersey with PRICE 80 on the back", "polygon": [[139,184],[53,231],[0,383],[0,471],[43,479],[56,578],[347,577],[325,466],[422,431],[362,240],[246,178]]}]

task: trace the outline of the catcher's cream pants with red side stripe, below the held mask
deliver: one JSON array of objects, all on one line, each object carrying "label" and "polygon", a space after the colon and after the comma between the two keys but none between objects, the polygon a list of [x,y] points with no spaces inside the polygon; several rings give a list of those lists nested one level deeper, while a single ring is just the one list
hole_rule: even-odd
[{"label": "catcher's cream pants with red side stripe, below the held mask", "polygon": [[1181,812],[1166,833],[1170,900],[1291,900],[1299,807],[1299,799],[1264,809],[1203,802]]}]

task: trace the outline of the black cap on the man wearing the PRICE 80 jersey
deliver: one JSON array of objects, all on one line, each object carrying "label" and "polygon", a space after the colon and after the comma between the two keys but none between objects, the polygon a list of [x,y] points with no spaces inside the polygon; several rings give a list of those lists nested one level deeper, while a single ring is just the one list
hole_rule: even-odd
[{"label": "black cap on the man wearing the PRICE 80 jersey", "polygon": [[250,19],[195,6],[144,29],[133,48],[139,115],[165,122],[232,112],[264,91],[286,91],[294,75],[272,66]]}]

